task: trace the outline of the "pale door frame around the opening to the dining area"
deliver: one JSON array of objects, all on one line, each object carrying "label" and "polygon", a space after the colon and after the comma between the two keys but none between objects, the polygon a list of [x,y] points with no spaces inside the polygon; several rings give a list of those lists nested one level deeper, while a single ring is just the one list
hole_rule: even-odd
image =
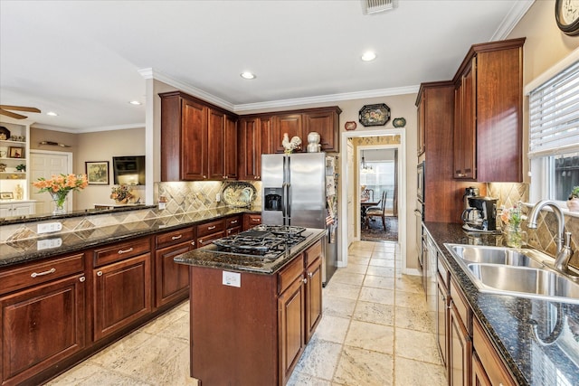
[{"label": "pale door frame around the opening to the dining area", "polygon": [[[354,143],[355,141],[356,143]],[[356,156],[358,150],[356,147],[361,149],[362,146],[365,146],[365,148],[383,146],[396,150],[398,158],[396,166],[398,196],[403,198],[406,193],[406,136],[403,130],[396,128],[360,132],[346,131],[341,134],[340,146],[342,149],[346,149],[346,155],[341,157],[341,170],[344,171],[344,175],[342,184],[340,184],[340,196],[342,197],[340,199],[340,212],[344,221],[341,222],[341,234],[343,235],[342,253],[338,259],[338,266],[346,267],[349,245],[356,240],[360,240],[360,234],[357,231],[360,229],[359,224],[361,223],[360,193],[358,192],[359,189],[352,189],[352,186],[360,186],[358,170],[361,156]],[[354,155],[350,154],[350,152],[354,152]],[[404,199],[397,200],[395,211],[398,213],[397,244],[403,259],[402,266],[406,267],[406,216],[403,215],[406,212],[406,202]]]}]

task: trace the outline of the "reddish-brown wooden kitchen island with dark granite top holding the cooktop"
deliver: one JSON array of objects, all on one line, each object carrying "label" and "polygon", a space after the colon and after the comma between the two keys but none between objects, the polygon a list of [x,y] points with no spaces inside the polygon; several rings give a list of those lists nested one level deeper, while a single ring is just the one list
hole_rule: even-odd
[{"label": "reddish-brown wooden kitchen island with dark granite top holding the cooktop", "polygon": [[205,385],[288,381],[322,309],[326,231],[302,234],[305,240],[272,259],[215,246],[175,258],[190,266],[192,377]]}]

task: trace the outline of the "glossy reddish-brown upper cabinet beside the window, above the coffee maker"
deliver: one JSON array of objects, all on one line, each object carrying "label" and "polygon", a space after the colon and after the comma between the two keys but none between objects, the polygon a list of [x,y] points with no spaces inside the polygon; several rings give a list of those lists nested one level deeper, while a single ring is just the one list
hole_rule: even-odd
[{"label": "glossy reddish-brown upper cabinet beside the window, above the coffee maker", "polygon": [[454,76],[454,178],[523,180],[524,43],[474,44]]}]

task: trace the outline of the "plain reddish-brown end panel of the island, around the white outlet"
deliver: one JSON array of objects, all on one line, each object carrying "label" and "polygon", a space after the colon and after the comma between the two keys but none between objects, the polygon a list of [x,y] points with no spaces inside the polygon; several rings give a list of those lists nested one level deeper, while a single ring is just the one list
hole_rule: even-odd
[{"label": "plain reddish-brown end panel of the island, around the white outlet", "polygon": [[203,386],[277,385],[278,277],[232,272],[239,279],[225,285],[223,272],[189,268],[191,376]]}]

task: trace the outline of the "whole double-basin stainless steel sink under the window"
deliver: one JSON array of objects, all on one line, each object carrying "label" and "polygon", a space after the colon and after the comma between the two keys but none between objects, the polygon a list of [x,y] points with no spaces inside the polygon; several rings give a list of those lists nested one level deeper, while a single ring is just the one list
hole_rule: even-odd
[{"label": "whole double-basin stainless steel sink under the window", "polygon": [[579,304],[579,281],[536,249],[444,245],[480,292]]}]

